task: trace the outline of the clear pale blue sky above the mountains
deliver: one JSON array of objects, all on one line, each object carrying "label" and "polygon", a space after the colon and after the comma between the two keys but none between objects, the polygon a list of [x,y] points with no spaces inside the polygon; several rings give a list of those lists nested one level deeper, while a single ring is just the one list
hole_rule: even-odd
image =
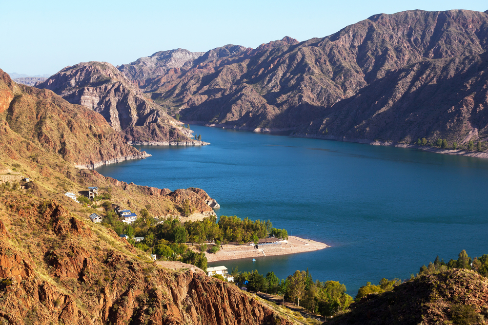
[{"label": "clear pale blue sky above the mountains", "polygon": [[0,68],[54,74],[86,61],[114,65],[178,47],[257,47],[284,36],[324,37],[374,14],[488,10],[486,0],[3,1]]}]

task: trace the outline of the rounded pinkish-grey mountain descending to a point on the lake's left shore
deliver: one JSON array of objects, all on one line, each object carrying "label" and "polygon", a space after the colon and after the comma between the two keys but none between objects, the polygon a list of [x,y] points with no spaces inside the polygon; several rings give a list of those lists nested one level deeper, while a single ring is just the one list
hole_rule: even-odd
[{"label": "rounded pinkish-grey mountain descending to a point on the lake's left shore", "polygon": [[[168,144],[193,141],[183,132],[180,123],[168,116],[161,107],[147,100],[113,65],[106,62],[87,62],[66,67],[54,76],[36,85],[50,89],[73,104],[100,113],[118,132],[143,134],[144,140]],[[151,133],[157,129],[159,132]],[[134,136],[126,138],[134,143]]]}]

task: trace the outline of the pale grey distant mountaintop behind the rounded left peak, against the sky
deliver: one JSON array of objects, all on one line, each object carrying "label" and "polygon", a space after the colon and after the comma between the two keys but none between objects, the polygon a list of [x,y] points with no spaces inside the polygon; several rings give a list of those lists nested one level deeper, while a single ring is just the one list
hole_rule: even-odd
[{"label": "pale grey distant mountaintop behind the rounded left peak, against the sky", "polygon": [[193,61],[204,52],[190,52],[185,49],[160,51],[150,57],[140,57],[117,68],[131,80],[145,80],[161,76],[169,69],[191,67]]}]

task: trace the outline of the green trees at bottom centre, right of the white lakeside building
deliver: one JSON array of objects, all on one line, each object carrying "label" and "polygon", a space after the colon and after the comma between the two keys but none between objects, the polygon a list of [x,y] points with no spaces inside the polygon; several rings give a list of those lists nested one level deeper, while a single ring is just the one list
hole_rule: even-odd
[{"label": "green trees at bottom centre, right of the white lakeside building", "polygon": [[234,283],[239,287],[245,285],[250,291],[264,291],[282,294],[284,299],[303,306],[323,317],[344,311],[351,303],[352,297],[346,294],[346,286],[337,281],[314,282],[306,271],[295,271],[286,279],[280,280],[274,272],[266,276],[253,272],[232,270]]}]

